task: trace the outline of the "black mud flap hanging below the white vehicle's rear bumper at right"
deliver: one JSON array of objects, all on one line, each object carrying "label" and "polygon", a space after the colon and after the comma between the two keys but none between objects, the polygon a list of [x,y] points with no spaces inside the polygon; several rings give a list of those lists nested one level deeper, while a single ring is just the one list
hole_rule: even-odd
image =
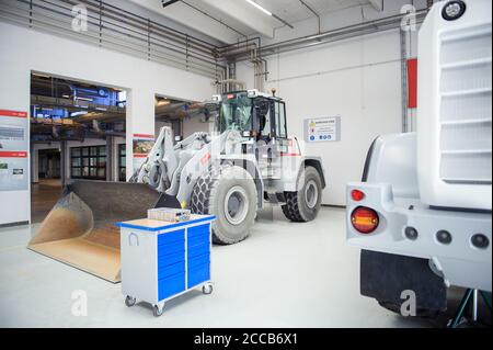
[{"label": "black mud flap hanging below the white vehicle's rear bumper at right", "polygon": [[443,312],[447,308],[444,279],[429,268],[427,259],[362,250],[360,293],[382,305],[400,309],[404,291],[416,295],[417,311]]}]

